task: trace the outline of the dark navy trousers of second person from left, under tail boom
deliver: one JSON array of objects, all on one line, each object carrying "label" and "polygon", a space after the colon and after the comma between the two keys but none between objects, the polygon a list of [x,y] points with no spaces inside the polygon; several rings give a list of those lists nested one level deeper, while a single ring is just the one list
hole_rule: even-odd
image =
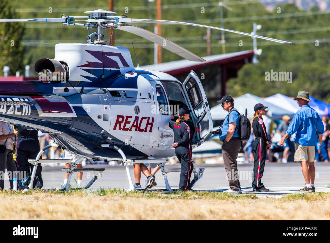
[{"label": "dark navy trousers of second person from left, under tail boom", "polygon": [[[28,159],[36,159],[37,155],[40,151],[40,145],[38,139],[31,139],[31,138],[25,138],[21,139],[20,137],[17,138],[17,147],[16,147],[16,162],[18,164],[17,171],[21,172],[21,175],[23,175],[23,172],[26,172],[26,176],[30,177],[32,170],[33,170],[33,164],[30,164],[27,160]],[[43,186],[43,180],[41,177],[41,164],[38,164],[36,176],[38,177],[38,182],[33,183],[36,187],[41,188]],[[19,178],[23,179],[24,178]],[[35,187],[34,186],[34,187]]]}]

